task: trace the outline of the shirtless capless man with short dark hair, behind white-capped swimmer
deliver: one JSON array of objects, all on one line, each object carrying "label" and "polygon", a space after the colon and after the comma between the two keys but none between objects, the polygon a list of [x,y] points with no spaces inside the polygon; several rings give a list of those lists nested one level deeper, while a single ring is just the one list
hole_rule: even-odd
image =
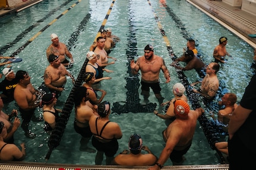
[{"label": "shirtless capless man with short dark hair, behind white-capped swimmer", "polygon": [[97,59],[97,63],[102,68],[105,68],[105,66],[112,65],[115,63],[115,62],[108,63],[109,58],[116,60],[114,57],[108,56],[108,53],[104,49],[105,41],[106,40],[103,37],[97,37],[97,46],[96,46],[96,49],[94,50],[94,53],[100,55],[99,59]]}]

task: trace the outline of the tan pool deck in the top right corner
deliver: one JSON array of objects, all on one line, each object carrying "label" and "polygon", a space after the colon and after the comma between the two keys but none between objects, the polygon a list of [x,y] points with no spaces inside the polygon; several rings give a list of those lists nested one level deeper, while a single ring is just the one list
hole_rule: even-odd
[{"label": "tan pool deck in the top right corner", "polygon": [[187,0],[187,2],[206,13],[256,49],[256,38],[248,36],[248,34],[256,34],[255,15],[242,11],[241,7],[232,7],[220,0]]}]

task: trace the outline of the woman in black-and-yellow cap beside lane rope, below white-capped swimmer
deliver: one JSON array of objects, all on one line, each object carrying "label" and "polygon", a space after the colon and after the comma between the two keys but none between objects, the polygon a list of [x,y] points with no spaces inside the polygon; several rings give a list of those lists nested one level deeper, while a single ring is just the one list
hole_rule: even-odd
[{"label": "woman in black-and-yellow cap beside lane rope, below white-capped swimmer", "polygon": [[[106,95],[106,91],[104,91],[103,89],[93,89],[93,84],[95,82],[95,76],[93,72],[86,72],[84,74],[84,82],[86,82],[85,84],[83,84],[84,87],[87,88],[87,91],[89,92],[89,101],[91,104],[93,105],[97,105],[100,104],[100,102],[102,102],[103,98]],[[97,98],[97,93],[96,91],[101,91],[102,92],[102,96],[98,99]]]}]

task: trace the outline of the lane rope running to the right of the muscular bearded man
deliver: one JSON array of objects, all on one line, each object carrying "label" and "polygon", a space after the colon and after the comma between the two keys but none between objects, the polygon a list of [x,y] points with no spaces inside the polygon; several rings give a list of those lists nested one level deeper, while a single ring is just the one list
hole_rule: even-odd
[{"label": "lane rope running to the right of the muscular bearded man", "polygon": [[[175,56],[175,54],[173,53],[172,47],[170,46],[170,43],[169,43],[169,40],[167,39],[165,31],[163,30],[162,25],[161,25],[160,21],[158,20],[158,17],[156,16],[156,13],[154,12],[154,9],[153,9],[150,1],[149,0],[147,0],[147,1],[148,1],[148,4],[150,5],[150,7],[152,8],[152,12],[154,13],[154,18],[157,22],[160,33],[162,34],[163,39],[166,42],[166,47],[167,47],[167,50],[169,51],[169,55],[170,55],[170,57],[172,57],[172,60],[175,60],[175,57],[173,57],[173,56]],[[171,49],[172,53],[170,53],[170,49]],[[181,79],[182,84],[185,86],[187,97],[189,98],[189,101],[191,102],[192,108],[195,109],[195,108],[201,107],[201,105],[199,104],[199,102],[197,100],[197,95],[194,92],[192,92],[192,88],[188,82],[188,79],[187,79],[187,76],[185,75],[185,73],[179,69],[176,69],[176,72],[177,72],[179,79]],[[211,149],[216,150],[217,154],[220,156],[220,161],[222,161],[221,163],[225,163],[225,158],[223,158],[222,153],[220,153],[219,150],[217,150],[216,147],[214,146],[214,143],[218,142],[219,139],[215,135],[214,131],[212,131],[213,128],[211,127],[211,124],[208,123],[208,118],[206,117],[206,115],[204,113],[202,113],[201,116],[198,118],[198,121],[203,129],[204,135],[206,136],[206,139],[207,139]]]}]

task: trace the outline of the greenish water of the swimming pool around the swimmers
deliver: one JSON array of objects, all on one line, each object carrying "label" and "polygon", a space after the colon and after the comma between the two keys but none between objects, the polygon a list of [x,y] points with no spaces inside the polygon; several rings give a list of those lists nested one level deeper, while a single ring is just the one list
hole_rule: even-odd
[{"label": "greenish water of the swimming pool around the swimmers", "polygon": [[[70,8],[75,3],[77,4]],[[51,43],[50,34],[56,33],[59,40],[70,47],[75,64],[69,70],[72,75],[77,77],[86,59],[86,53],[102,25],[111,3],[112,1],[43,1],[7,20],[1,21],[0,30],[3,36],[0,52],[3,56],[17,54],[16,56],[23,58],[23,62],[12,64],[13,69],[15,72],[19,69],[27,70],[31,76],[31,83],[38,87],[43,82],[42,75],[46,66],[48,66],[45,52]],[[169,66],[172,59],[166,50],[166,41],[159,31],[159,22],[165,30],[166,37],[169,39],[170,46],[176,56],[182,54],[182,48],[186,46],[187,39],[192,38],[196,40],[197,49],[205,63],[213,61],[212,53],[214,47],[218,44],[219,37],[226,36],[229,40],[227,51],[232,54],[233,59],[229,59],[227,64],[221,66],[218,76],[220,81],[223,82],[222,87],[225,86],[228,91],[235,92],[238,95],[238,101],[241,100],[244,89],[254,73],[254,70],[251,69],[253,62],[252,48],[197,8],[186,1],[167,1],[166,6],[163,6],[159,1],[150,1],[150,4],[148,5],[148,1],[142,0],[115,1],[105,25],[106,28],[111,27],[112,34],[121,39],[110,53],[110,56],[118,58],[115,65],[108,66],[108,69],[115,72],[105,73],[105,76],[111,76],[112,79],[101,83],[101,88],[107,91],[104,100],[110,101],[112,113],[115,111],[110,120],[119,123],[123,132],[123,137],[119,140],[118,153],[127,149],[128,138],[131,133],[140,133],[144,145],[147,145],[156,156],[160,155],[164,147],[160,132],[165,129],[165,122],[156,118],[153,113],[137,113],[132,110],[142,99],[141,95],[138,95],[140,94],[140,86],[138,86],[140,84],[137,84],[140,81],[140,76],[132,78],[128,72],[130,57],[134,57],[136,60],[138,56],[143,55],[144,46],[152,44],[155,53],[165,59],[172,78],[169,84],[165,84],[165,78],[161,73],[162,95],[166,100],[172,98],[172,86],[181,80],[178,78],[176,70]],[[68,12],[61,15],[67,9],[69,9]],[[154,13],[157,15],[159,22],[156,22]],[[61,17],[59,17],[60,15]],[[48,27],[49,23],[55,18],[58,18],[58,20]],[[33,28],[25,33],[24,31],[31,25],[33,25]],[[41,30],[43,30],[42,33],[30,42],[29,40]],[[12,44],[21,33],[23,35],[21,39]],[[23,48],[28,41],[29,44]],[[12,44],[12,46],[4,48],[7,44]],[[185,76],[187,76],[189,82],[195,82],[199,79],[194,70],[185,72]],[[131,80],[134,80],[134,82],[132,83]],[[68,79],[65,88],[57,102],[57,108],[63,107],[69,95],[72,88],[70,79]],[[133,98],[134,95],[136,98]],[[150,93],[149,99],[153,104],[157,104],[153,92]],[[219,98],[216,98],[217,100]],[[118,108],[114,107],[114,103],[127,104],[129,107],[125,107],[122,113],[118,113]],[[10,111],[17,106],[12,102],[5,105],[5,107]],[[215,112],[215,110],[211,111]],[[42,112],[38,111],[39,113]],[[209,113],[209,110],[206,108],[207,113]],[[48,162],[94,165],[95,153],[79,150],[80,135],[75,133],[73,121],[74,110],[69,118],[61,143],[53,150]],[[15,143],[26,142],[27,157],[24,161],[45,162],[49,135],[43,131],[42,123],[33,124],[31,122],[31,127],[33,127],[37,137],[33,140],[27,139],[23,131],[19,129],[15,133]],[[89,146],[93,147],[91,144]],[[198,123],[191,149],[185,155],[187,160],[184,165],[217,164],[219,160],[215,153],[208,145]],[[168,160],[165,165],[172,165],[172,163]]]}]

